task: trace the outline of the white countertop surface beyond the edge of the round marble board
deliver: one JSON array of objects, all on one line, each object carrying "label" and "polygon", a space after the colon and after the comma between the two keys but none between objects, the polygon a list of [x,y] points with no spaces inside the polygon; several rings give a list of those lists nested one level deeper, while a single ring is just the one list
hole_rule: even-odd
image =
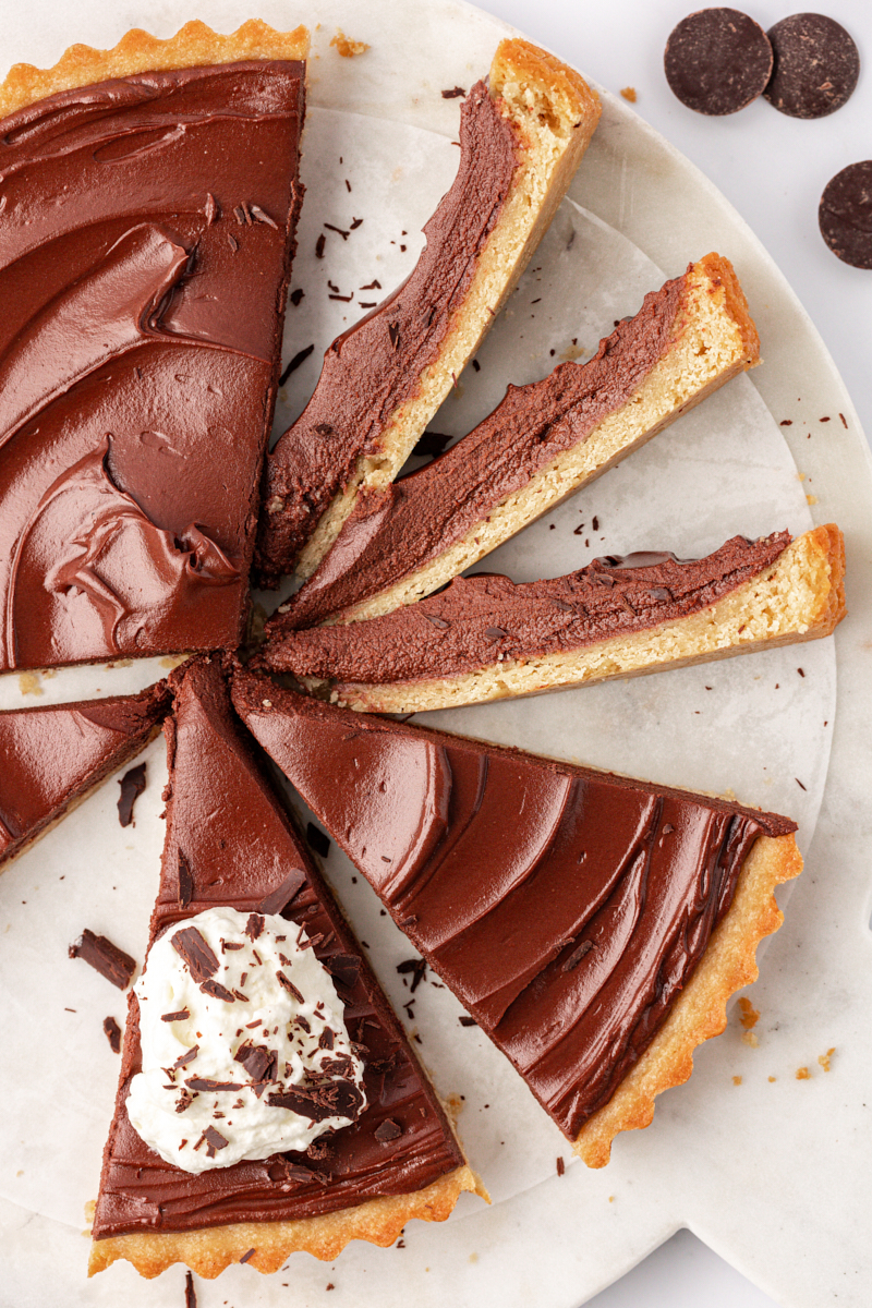
[{"label": "white countertop surface beyond the edge of the round marble board", "polygon": [[[833,354],[867,433],[872,433],[869,322],[872,272],[850,268],[824,245],[817,205],[829,179],[872,156],[872,7],[813,5],[851,33],[860,80],[848,103],[816,122],[777,112],[762,98],[727,118],[685,109],[663,75],[663,47],[686,0],[478,0],[482,9],[550,47],[612,92],[633,86],[635,111],[688,156],[753,228],[791,283]],[[763,27],[801,7],[756,0]],[[698,258],[702,251],[688,251]],[[680,1231],[594,1300],[591,1308],[766,1308],[761,1290]],[[543,1305],[544,1308],[544,1305]]]}]

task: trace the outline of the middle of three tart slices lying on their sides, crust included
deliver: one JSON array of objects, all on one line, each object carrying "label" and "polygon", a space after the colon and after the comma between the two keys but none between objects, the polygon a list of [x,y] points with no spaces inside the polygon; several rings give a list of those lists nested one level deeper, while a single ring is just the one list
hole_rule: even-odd
[{"label": "middle of three tart slices lying on their sides, crust included", "polygon": [[588,362],[510,386],[444,454],[362,490],[276,627],[378,617],[429,595],[758,362],[732,264],[706,255],[647,294]]}]

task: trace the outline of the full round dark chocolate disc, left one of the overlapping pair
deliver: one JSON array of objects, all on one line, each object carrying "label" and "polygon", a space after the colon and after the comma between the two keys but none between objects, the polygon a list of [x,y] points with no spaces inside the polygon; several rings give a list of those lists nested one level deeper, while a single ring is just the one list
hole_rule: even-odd
[{"label": "full round dark chocolate disc, left one of the overlapping pair", "polygon": [[769,37],[739,9],[699,9],[669,34],[667,81],[698,114],[735,114],[756,99],[773,71]]}]

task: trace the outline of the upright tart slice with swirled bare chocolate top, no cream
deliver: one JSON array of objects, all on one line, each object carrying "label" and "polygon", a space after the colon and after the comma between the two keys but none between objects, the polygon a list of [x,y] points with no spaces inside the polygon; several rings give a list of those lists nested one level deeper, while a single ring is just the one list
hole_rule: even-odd
[{"label": "upright tart slice with swirled bare chocolate top, no cream", "polygon": [[234,704],[591,1167],[757,976],[795,824],[388,722],[239,672]]}]

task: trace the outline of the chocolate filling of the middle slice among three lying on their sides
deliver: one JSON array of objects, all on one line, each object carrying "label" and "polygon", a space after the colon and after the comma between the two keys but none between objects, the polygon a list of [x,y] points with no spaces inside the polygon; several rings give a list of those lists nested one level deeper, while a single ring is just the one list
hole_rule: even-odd
[{"label": "chocolate filling of the middle slice among three lying on their sides", "polygon": [[645,297],[587,364],[510,386],[468,436],[384,490],[362,490],[281,629],[312,627],[443,553],[507,496],[628,403],[676,339],[686,273]]}]

